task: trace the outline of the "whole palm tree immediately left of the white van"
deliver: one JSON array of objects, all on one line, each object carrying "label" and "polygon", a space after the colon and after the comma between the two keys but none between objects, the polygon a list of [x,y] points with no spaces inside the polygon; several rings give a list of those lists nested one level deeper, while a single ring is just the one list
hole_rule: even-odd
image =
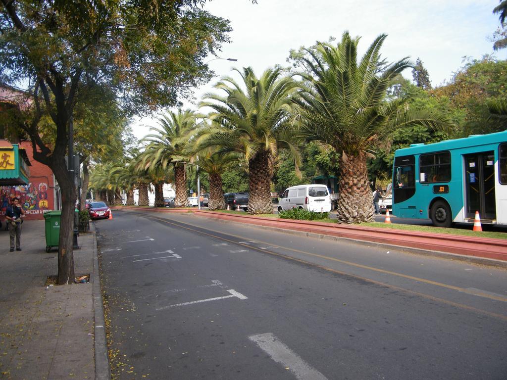
[{"label": "whole palm tree immediately left of the white van", "polygon": [[214,112],[208,118],[215,125],[199,137],[199,146],[216,146],[223,151],[244,155],[249,170],[248,213],[272,213],[270,186],[273,159],[279,147],[289,149],[299,164],[298,139],[289,125],[296,83],[282,77],[282,69],[268,69],[257,78],[251,67],[235,69],[243,81],[241,88],[234,79],[223,78],[214,87],[224,96],[206,94],[201,106]]}]

